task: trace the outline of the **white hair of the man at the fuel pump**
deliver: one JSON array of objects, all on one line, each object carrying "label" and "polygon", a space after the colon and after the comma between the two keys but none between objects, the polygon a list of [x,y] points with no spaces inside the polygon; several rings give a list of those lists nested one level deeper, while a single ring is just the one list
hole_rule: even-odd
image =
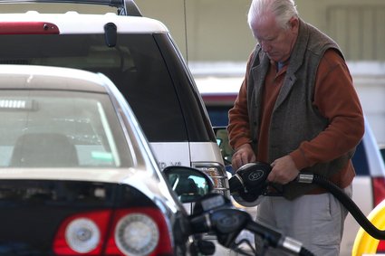
[{"label": "white hair of the man at the fuel pump", "polygon": [[284,29],[292,17],[298,16],[294,0],[253,0],[247,15],[250,28],[255,22],[264,20],[269,13],[274,14],[276,23]]}]

